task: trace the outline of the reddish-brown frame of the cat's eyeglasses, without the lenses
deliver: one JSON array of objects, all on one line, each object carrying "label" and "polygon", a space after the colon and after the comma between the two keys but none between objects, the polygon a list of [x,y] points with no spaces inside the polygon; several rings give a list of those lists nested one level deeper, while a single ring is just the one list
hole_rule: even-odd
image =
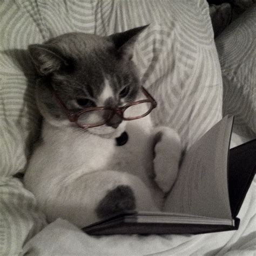
[{"label": "reddish-brown frame of the cat's eyeglasses, without the lenses", "polygon": [[[66,107],[66,105],[64,104],[64,102],[62,101],[62,99],[60,99],[60,97],[58,96],[58,93],[54,90],[53,91],[53,95],[55,96],[55,98],[57,99],[57,102],[59,103],[60,106],[62,106],[63,110],[65,111],[66,116],[69,118],[69,121],[71,123],[76,123],[79,127],[83,128],[83,129],[88,129],[88,128],[92,128],[92,127],[97,127],[97,126],[102,126],[104,124],[107,123],[108,120],[110,120],[114,114],[118,114],[119,117],[122,118],[122,120],[136,120],[139,118],[143,118],[145,116],[147,116],[154,108],[157,107],[157,102],[156,100],[150,95],[150,93],[143,87],[141,86],[142,92],[144,93],[144,95],[147,97],[147,99],[142,99],[142,100],[136,100],[135,102],[131,102],[131,103],[127,103],[126,105],[122,106],[122,107],[100,107],[100,106],[96,106],[96,107],[86,107],[78,112],[72,112],[68,109],[68,107]],[[124,111],[133,105],[137,105],[137,104],[141,104],[141,103],[151,103],[151,107],[150,109],[137,117],[130,117],[130,118],[125,118],[124,117]],[[95,110],[111,110],[112,111],[112,115],[105,120],[104,122],[100,123],[100,124],[96,124],[96,125],[80,125],[78,123],[78,119],[79,116],[85,112],[90,112],[90,111],[95,111]]]}]

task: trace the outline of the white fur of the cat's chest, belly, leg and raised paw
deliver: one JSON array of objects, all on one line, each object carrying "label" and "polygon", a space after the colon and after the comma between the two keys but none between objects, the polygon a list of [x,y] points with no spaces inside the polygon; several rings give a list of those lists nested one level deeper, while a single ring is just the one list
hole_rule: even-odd
[{"label": "white fur of the cat's chest, belly, leg and raised paw", "polygon": [[[35,194],[49,221],[62,217],[79,227],[97,221],[99,201],[118,185],[132,188],[138,210],[154,211],[162,206],[164,193],[178,172],[178,134],[167,127],[154,129],[150,116],[111,129],[112,135],[106,138],[93,129],[62,129],[44,121],[43,142],[33,153],[24,184]],[[129,140],[116,146],[114,137],[124,130]],[[159,133],[161,139],[156,144]]]}]

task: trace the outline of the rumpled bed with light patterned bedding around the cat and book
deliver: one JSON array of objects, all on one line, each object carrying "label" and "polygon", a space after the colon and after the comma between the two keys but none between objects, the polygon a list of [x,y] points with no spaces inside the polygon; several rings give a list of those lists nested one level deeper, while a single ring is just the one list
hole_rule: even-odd
[{"label": "rumpled bed with light patterned bedding around the cat and book", "polygon": [[255,138],[255,4],[215,41],[204,0],[10,0],[0,8],[1,255],[255,255],[255,178],[238,231],[93,237],[62,219],[47,224],[18,175],[26,170],[41,124],[26,49],[71,31],[110,35],[150,24],[138,39],[134,62],[158,102],[154,124],[176,129],[189,147],[234,114],[231,147]]}]

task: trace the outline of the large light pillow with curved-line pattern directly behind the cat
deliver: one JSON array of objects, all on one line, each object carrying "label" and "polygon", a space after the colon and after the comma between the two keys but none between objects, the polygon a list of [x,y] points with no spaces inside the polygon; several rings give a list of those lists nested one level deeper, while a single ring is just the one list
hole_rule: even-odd
[{"label": "large light pillow with curved-line pattern directly behind the cat", "polygon": [[223,91],[204,0],[10,0],[1,7],[0,221],[8,221],[0,222],[0,254],[15,254],[45,225],[33,195],[12,178],[25,171],[39,134],[35,79],[25,51],[29,44],[70,31],[110,35],[150,23],[136,45],[134,62],[142,84],[158,101],[154,123],[176,129],[184,146],[221,119]]}]

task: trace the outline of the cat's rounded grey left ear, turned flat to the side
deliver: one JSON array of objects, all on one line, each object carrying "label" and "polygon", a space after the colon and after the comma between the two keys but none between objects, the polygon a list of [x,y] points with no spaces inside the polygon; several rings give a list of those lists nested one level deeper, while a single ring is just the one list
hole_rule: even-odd
[{"label": "cat's rounded grey left ear, turned flat to the side", "polygon": [[64,57],[52,45],[31,44],[28,50],[37,71],[43,76],[59,70],[62,65],[67,65]]}]

